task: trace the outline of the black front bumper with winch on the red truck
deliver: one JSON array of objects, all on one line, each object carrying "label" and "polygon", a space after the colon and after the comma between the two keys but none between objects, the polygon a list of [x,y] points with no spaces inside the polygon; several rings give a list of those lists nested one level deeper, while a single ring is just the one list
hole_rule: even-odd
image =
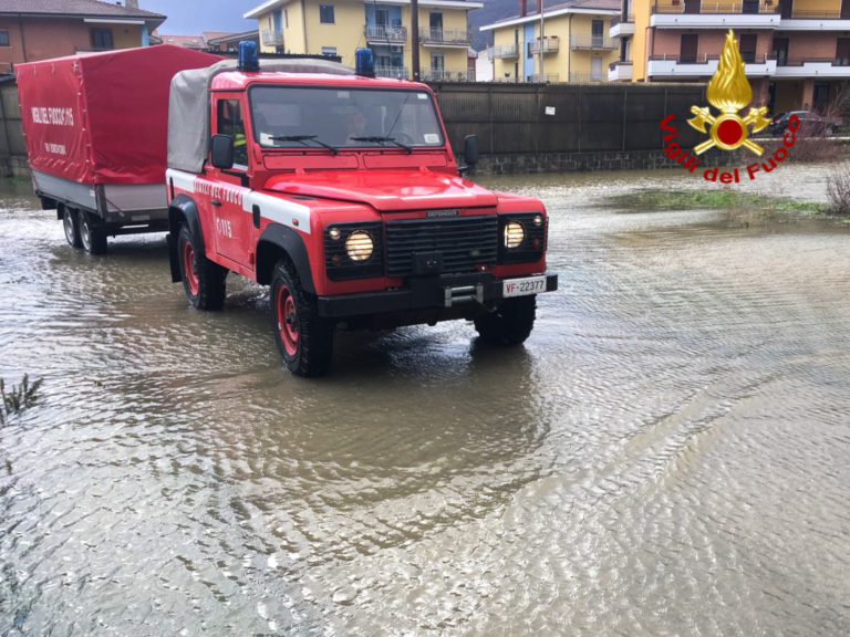
[{"label": "black front bumper with winch on the red truck", "polygon": [[[558,289],[558,274],[541,274],[546,290]],[[518,278],[525,280],[527,278]],[[386,314],[417,310],[442,310],[466,304],[495,305],[502,299],[504,283],[512,279],[496,279],[493,274],[456,274],[412,278],[404,288],[381,292],[319,296],[320,316],[343,318],[369,314]]]}]

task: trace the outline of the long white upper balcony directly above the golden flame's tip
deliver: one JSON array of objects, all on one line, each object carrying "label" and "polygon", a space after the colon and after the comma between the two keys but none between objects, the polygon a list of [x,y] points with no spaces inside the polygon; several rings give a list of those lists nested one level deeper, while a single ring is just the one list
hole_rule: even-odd
[{"label": "long white upper balcony directly above the golden flame's tip", "polygon": [[[687,9],[687,10],[685,10]],[[687,8],[673,3],[655,3],[650,27],[660,29],[775,29],[779,24],[778,7],[761,7],[757,1],[721,4],[688,2]],[[785,27],[785,24],[782,24]]]}]

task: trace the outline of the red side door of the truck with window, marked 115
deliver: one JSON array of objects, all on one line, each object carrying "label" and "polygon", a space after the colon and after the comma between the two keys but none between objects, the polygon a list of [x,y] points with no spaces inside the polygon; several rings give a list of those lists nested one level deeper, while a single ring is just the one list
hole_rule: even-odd
[{"label": "red side door of the truck with window, marked 115", "polygon": [[251,216],[242,209],[248,188],[248,147],[246,144],[242,103],[238,95],[216,100],[215,132],[234,138],[234,167],[230,170],[211,169],[209,211],[216,233],[216,252],[228,261],[251,269]]}]

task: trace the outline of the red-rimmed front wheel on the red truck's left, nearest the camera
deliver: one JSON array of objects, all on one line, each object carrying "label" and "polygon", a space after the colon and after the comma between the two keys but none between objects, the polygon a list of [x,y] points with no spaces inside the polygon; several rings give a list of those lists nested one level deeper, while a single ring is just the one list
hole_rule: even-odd
[{"label": "red-rimmed front wheel on the red truck's left, nearest the camera", "polygon": [[331,366],[334,324],[318,316],[315,299],[303,291],[287,260],[274,267],[269,304],[274,342],[287,368],[297,376],[323,376]]}]

